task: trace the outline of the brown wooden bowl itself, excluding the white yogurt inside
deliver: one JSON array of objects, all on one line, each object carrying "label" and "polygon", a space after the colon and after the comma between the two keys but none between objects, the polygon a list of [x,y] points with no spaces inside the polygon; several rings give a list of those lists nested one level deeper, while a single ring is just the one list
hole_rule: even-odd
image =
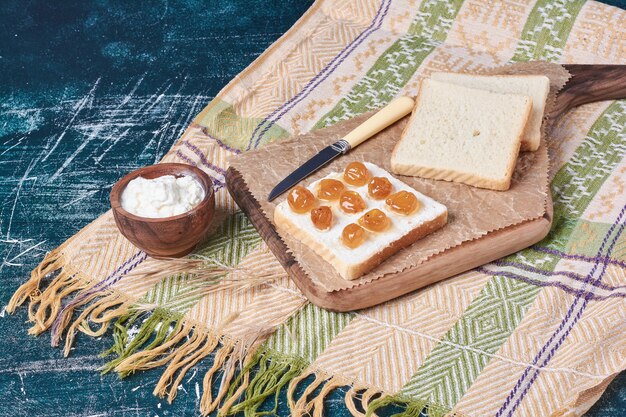
[{"label": "brown wooden bowl itself, excluding the white yogurt inside", "polygon": [[[204,199],[188,212],[171,217],[140,217],[122,208],[122,192],[131,180],[163,175],[195,178],[204,188]],[[201,169],[186,164],[157,164],[133,171],[113,186],[110,199],[120,233],[154,258],[187,255],[204,239],[215,213],[215,192],[211,177]]]}]

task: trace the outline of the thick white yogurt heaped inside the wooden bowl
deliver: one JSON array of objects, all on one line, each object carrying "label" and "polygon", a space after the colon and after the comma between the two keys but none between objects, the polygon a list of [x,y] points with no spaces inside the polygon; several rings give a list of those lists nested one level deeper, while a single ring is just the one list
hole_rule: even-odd
[{"label": "thick white yogurt heaped inside the wooden bowl", "polygon": [[203,198],[204,189],[189,176],[138,177],[122,192],[122,208],[141,217],[170,217],[191,210]]}]

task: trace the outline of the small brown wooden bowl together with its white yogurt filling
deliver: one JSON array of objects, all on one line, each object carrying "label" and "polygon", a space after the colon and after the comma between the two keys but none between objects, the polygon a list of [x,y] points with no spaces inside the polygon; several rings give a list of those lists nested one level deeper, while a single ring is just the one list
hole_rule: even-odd
[{"label": "small brown wooden bowl together with its white yogurt filling", "polygon": [[154,258],[190,253],[206,238],[215,213],[213,180],[187,164],[133,171],[115,183],[110,200],[120,233]]}]

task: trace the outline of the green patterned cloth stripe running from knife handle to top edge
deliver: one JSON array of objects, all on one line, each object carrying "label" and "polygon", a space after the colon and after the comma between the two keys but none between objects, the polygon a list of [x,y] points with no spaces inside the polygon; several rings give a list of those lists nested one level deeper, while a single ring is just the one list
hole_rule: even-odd
[{"label": "green patterned cloth stripe running from knife handle to top edge", "polygon": [[424,1],[408,33],[396,40],[352,88],[322,117],[314,129],[330,126],[389,103],[411,79],[424,59],[443,42],[462,0]]}]

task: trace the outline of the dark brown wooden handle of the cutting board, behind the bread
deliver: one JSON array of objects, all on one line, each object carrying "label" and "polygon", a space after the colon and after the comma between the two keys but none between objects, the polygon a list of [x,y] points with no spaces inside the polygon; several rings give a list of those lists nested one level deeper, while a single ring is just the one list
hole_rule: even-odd
[{"label": "dark brown wooden handle of the cutting board, behind the bread", "polygon": [[572,78],[556,98],[550,113],[553,119],[583,104],[626,98],[626,65],[566,64],[563,67]]}]

